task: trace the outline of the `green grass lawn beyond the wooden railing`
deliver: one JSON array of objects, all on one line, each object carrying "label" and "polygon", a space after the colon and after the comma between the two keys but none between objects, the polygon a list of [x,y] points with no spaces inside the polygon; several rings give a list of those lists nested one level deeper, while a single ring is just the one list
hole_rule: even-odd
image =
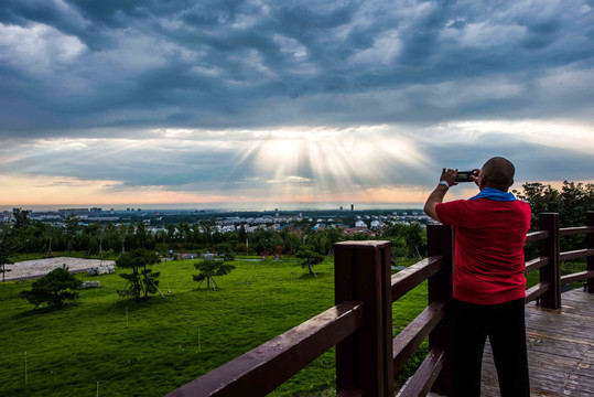
[{"label": "green grass lawn beyond the wooden railing", "polygon": [[[330,258],[317,278],[296,259],[236,261],[217,291],[196,289],[192,264],[154,266],[165,298],[140,304],[115,304],[125,285],[117,275],[78,276],[102,288],[62,308],[19,299],[31,281],[0,286],[0,395],[96,396],[98,387],[100,396],[162,396],[334,304]],[[395,332],[424,309],[424,290],[395,305]],[[332,395],[334,378],[331,351],[272,395]]]}]

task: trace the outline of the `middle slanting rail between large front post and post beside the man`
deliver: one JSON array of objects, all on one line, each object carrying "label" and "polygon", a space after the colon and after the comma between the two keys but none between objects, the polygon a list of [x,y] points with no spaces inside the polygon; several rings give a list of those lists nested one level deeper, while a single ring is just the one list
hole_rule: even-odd
[{"label": "middle slanting rail between large front post and post beside the man", "polygon": [[412,353],[443,319],[444,313],[445,304],[443,302],[433,302],[393,339],[395,375],[402,369]]}]

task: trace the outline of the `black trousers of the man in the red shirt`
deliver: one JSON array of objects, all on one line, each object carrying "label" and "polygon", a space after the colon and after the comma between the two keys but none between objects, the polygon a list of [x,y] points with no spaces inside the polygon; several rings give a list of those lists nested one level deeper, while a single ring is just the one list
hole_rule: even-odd
[{"label": "black trousers of the man in the red shirt", "polygon": [[489,337],[501,397],[529,397],[525,301],[485,305],[454,299],[454,396],[480,396],[480,366]]}]

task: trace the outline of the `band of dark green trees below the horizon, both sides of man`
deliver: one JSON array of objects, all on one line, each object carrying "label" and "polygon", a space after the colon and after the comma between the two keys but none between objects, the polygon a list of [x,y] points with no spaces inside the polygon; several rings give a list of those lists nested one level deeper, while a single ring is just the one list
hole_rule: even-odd
[{"label": "band of dark green trees below the horizon, both sides of man", "polygon": [[[538,215],[543,212],[560,214],[561,226],[584,224],[587,211],[594,211],[594,184],[565,181],[561,190],[542,183],[526,183],[516,195],[528,202],[532,208],[532,229],[538,228]],[[196,223],[169,224],[164,229],[152,233],[143,222],[114,225],[93,223],[86,226],[71,215],[63,227],[31,219],[29,212],[17,210],[13,221],[4,223],[0,230],[0,259],[6,262],[17,254],[39,253],[52,255],[54,251],[84,251],[87,256],[111,253],[119,256],[134,249],[170,249],[234,251],[237,254],[280,256],[295,255],[303,246],[320,254],[332,254],[335,243],[345,239],[387,239],[392,243],[396,258],[420,258],[426,256],[426,234],[422,225],[390,224],[372,236],[355,234],[345,236],[338,228],[312,230],[307,221],[285,225],[281,230],[258,228],[246,232],[245,226],[228,233],[220,233],[214,219]],[[564,245],[575,246],[583,236],[568,238]]]}]

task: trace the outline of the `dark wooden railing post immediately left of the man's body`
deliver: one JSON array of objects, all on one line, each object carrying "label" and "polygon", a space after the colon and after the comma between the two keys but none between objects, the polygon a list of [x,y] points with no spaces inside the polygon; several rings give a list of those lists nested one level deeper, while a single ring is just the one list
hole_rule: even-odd
[{"label": "dark wooden railing post immediately left of the man's body", "polygon": [[443,256],[443,268],[429,278],[429,304],[441,301],[446,304],[445,318],[429,335],[429,348],[442,347],[445,351],[445,364],[440,376],[433,384],[432,390],[450,396],[453,390],[453,335],[450,303],[453,299],[454,268],[454,228],[445,225],[429,225],[426,228],[428,255]]}]

